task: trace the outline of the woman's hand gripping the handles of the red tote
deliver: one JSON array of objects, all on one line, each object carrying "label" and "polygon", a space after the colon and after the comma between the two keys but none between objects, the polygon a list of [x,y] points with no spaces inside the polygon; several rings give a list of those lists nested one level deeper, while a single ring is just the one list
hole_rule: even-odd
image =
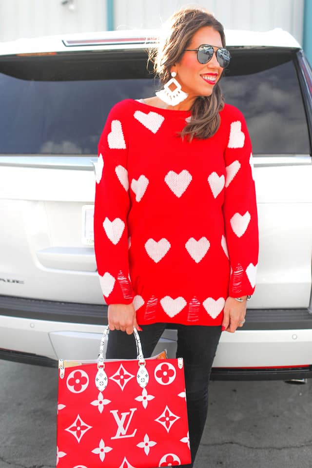
[{"label": "woman's hand gripping the handles of the red tote", "polygon": [[137,325],[136,311],[133,304],[110,304],[108,306],[108,327],[110,330],[125,331],[128,335],[133,329],[142,329]]}]

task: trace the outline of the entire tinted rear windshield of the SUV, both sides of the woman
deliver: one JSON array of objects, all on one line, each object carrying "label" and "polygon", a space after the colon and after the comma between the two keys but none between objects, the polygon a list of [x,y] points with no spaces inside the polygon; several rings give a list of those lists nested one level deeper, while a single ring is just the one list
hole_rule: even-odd
[{"label": "entire tinted rear windshield of the SUV, both sides of the woman", "polygon": [[[226,102],[246,118],[254,154],[310,154],[292,55],[251,54],[233,51],[220,83]],[[111,107],[160,88],[145,55],[88,59],[0,63],[0,154],[95,155]]]}]

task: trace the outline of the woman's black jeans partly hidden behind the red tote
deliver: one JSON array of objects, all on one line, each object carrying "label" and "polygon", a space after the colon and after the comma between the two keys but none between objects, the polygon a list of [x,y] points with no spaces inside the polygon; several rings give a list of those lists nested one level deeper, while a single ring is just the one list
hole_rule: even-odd
[{"label": "woman's black jeans partly hidden behind the red tote", "polygon": [[[166,327],[165,323],[142,325],[139,331],[144,357],[150,357]],[[219,342],[221,327],[177,324],[176,357],[183,357],[190,448],[193,467],[195,455],[205,427],[208,411],[208,384],[211,366]],[[124,331],[110,331],[106,359],[135,359],[134,336]]]}]

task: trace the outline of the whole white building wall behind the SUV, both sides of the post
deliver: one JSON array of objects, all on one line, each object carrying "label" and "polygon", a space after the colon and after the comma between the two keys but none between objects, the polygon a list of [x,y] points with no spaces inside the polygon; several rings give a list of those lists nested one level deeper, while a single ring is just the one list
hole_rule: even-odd
[{"label": "whole white building wall behind the SUV, both sides of the post", "polygon": [[[74,9],[69,9],[73,3]],[[157,28],[180,0],[114,0],[115,29]],[[304,0],[201,0],[227,29],[265,31],[281,27],[300,43]],[[0,41],[71,32],[101,31],[107,0],[0,0]]]}]

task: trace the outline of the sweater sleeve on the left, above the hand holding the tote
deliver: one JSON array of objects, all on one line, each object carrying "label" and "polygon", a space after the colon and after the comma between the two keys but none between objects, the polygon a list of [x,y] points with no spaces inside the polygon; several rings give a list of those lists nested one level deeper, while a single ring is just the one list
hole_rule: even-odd
[{"label": "sweater sleeve on the left, above the hand holding the tote", "polygon": [[120,103],[107,117],[98,143],[94,247],[107,304],[130,304],[127,215],[130,208],[126,117]]}]

